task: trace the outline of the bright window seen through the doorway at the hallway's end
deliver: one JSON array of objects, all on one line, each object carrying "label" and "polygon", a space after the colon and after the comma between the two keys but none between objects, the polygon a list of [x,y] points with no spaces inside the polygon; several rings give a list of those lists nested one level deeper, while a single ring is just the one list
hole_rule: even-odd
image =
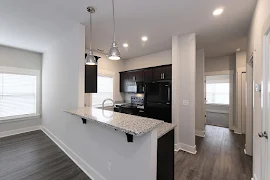
[{"label": "bright window seen through the doorway at the hallway's end", "polygon": [[230,84],[229,83],[211,83],[206,84],[207,104],[229,104],[230,102]]}]

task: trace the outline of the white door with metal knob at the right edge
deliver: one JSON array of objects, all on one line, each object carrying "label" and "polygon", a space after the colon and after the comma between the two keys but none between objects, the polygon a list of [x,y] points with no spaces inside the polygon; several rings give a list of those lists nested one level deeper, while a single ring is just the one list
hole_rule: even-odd
[{"label": "white door with metal knob at the right edge", "polygon": [[263,123],[262,137],[262,179],[270,179],[270,33],[264,39],[264,78],[263,78]]}]

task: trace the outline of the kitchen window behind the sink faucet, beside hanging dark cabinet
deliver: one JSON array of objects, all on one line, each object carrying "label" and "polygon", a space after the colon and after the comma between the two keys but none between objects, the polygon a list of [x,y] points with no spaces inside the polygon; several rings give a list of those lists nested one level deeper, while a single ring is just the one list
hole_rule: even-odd
[{"label": "kitchen window behind the sink faucet, beside hanging dark cabinet", "polygon": [[[113,99],[113,76],[98,75],[97,93],[92,94],[92,106],[100,106],[104,99]],[[105,105],[112,105],[107,101]]]}]

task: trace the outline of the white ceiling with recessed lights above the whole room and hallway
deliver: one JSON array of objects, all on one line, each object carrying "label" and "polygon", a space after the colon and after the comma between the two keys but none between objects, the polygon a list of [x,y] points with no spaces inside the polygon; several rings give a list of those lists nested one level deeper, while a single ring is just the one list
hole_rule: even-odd
[{"label": "white ceiling with recessed lights above the whole room and hallway", "polygon": [[[74,24],[88,26],[88,5],[96,8],[93,46],[107,52],[112,42],[111,0],[1,0],[0,44],[45,52]],[[173,35],[195,32],[197,48],[204,48],[207,57],[229,55],[245,49],[255,5],[256,0],[115,0],[116,40],[122,57],[129,59],[170,49]],[[217,7],[224,8],[220,17],[212,15]],[[142,35],[148,36],[146,43]]]}]

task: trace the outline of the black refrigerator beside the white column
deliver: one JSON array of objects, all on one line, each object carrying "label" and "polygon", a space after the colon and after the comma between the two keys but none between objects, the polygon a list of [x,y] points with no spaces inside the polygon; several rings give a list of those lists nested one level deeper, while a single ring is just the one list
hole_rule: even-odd
[{"label": "black refrigerator beside the white column", "polygon": [[172,123],[171,82],[145,84],[144,109],[147,117]]}]

